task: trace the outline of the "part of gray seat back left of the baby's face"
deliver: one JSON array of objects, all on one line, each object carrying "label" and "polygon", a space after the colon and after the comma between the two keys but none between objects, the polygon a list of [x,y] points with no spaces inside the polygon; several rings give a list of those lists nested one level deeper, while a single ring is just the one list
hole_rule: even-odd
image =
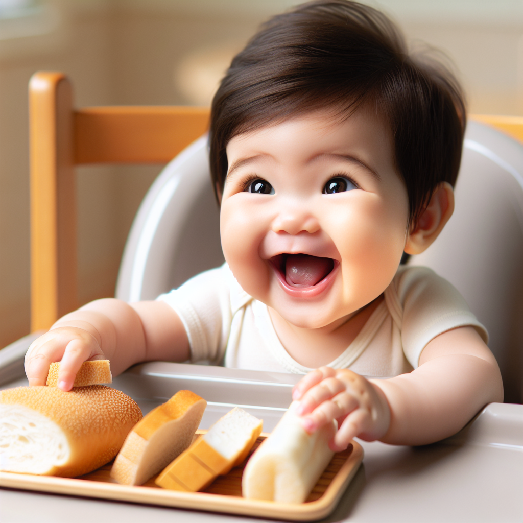
[{"label": "part of gray seat back left of the baby's face", "polygon": [[203,136],[167,164],[145,195],[123,252],[116,298],[154,300],[223,261]]}]

